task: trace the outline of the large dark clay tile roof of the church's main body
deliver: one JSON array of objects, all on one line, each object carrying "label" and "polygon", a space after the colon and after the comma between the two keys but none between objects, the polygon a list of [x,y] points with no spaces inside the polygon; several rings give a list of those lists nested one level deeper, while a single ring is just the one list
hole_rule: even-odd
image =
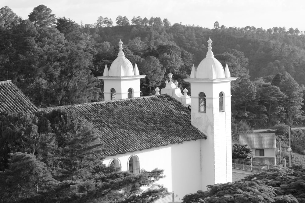
[{"label": "large dark clay tile roof of the church's main body", "polygon": [[191,111],[166,94],[41,110],[56,108],[75,110],[79,119],[92,122],[105,143],[103,156],[206,138],[191,125]]}]

